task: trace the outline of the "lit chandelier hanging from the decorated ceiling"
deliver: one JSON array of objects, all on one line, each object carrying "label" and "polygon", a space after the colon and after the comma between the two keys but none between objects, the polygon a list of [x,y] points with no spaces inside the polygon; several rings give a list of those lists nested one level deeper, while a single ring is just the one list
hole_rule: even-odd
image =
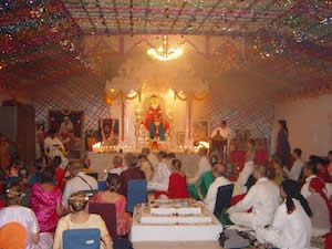
[{"label": "lit chandelier hanging from the decorated ceiling", "polygon": [[183,53],[184,51],[179,48],[168,48],[168,35],[163,35],[163,46],[147,50],[149,56],[159,61],[170,61],[179,58]]}]

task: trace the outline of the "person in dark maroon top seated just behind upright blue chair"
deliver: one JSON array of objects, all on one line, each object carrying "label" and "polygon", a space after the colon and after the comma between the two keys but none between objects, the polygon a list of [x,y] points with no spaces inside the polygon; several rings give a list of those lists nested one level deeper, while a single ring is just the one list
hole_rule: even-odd
[{"label": "person in dark maroon top seated just behind upright blue chair", "polygon": [[120,175],[120,194],[127,196],[128,181],[131,179],[145,179],[144,172],[138,167],[138,157],[132,153],[125,154],[125,163],[128,169]]}]

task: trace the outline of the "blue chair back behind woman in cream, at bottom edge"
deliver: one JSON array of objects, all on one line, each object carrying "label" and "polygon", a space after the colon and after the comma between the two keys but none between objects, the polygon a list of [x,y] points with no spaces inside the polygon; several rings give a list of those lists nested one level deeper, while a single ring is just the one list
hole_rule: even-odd
[{"label": "blue chair back behind woman in cream, at bottom edge", "polygon": [[100,249],[101,230],[92,229],[70,229],[62,234],[63,249]]}]

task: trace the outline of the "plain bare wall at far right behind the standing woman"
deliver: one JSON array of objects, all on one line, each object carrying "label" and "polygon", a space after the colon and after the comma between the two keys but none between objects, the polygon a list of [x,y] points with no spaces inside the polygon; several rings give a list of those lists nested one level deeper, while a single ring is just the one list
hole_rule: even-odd
[{"label": "plain bare wall at far right behind the standing woman", "polygon": [[304,159],[332,149],[332,95],[277,103],[274,123],[281,118],[288,122],[292,149],[300,147]]}]

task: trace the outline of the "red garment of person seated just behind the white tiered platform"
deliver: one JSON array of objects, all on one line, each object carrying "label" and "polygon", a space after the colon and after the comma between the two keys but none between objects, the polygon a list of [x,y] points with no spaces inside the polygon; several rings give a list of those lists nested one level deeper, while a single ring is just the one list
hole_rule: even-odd
[{"label": "red garment of person seated just behind the white tiered platform", "polygon": [[168,191],[156,191],[155,198],[158,198],[162,195],[167,196],[169,199],[190,198],[186,175],[173,173],[169,176]]}]

